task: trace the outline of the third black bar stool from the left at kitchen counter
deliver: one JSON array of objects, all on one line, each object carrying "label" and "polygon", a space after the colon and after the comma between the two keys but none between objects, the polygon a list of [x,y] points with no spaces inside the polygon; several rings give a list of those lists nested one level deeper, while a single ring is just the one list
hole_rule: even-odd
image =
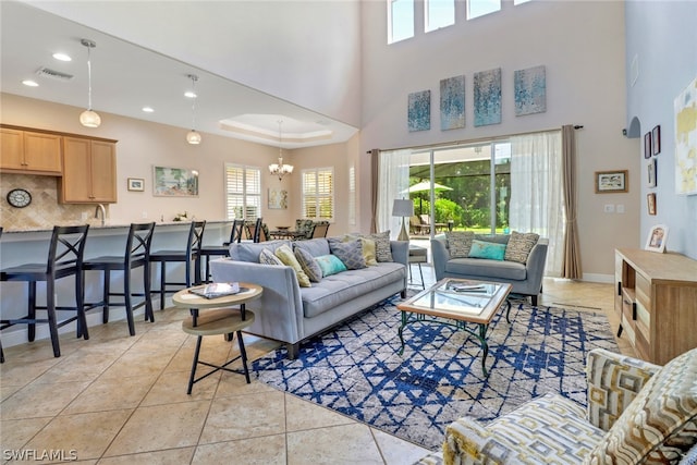
[{"label": "third black bar stool from the left at kitchen counter", "polygon": [[[167,294],[176,292],[169,286],[192,286],[192,262],[194,264],[194,284],[201,283],[200,277],[200,244],[204,237],[206,221],[192,221],[186,235],[186,247],[182,250],[155,250],[150,252],[150,262],[160,264],[160,286],[154,294],[160,294],[160,310],[164,309],[164,298]],[[183,262],[184,264],[184,281],[168,281],[167,264]]]}]

